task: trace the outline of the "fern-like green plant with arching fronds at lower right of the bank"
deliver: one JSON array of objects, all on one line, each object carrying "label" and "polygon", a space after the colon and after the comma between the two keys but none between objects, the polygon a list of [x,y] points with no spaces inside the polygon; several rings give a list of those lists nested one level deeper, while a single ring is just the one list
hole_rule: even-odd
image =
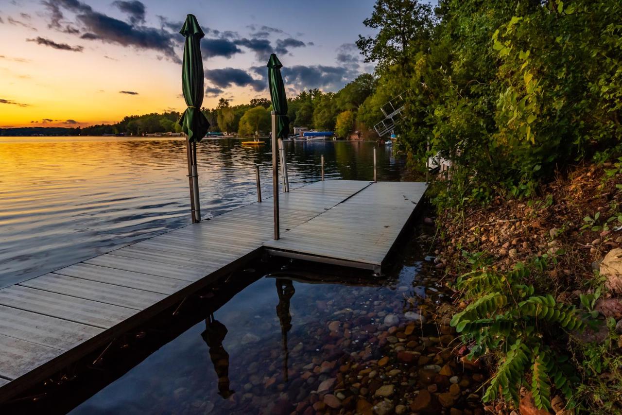
[{"label": "fern-like green plant with arching fronds at lower right of the bank", "polygon": [[527,375],[537,408],[550,409],[551,388],[570,402],[572,383],[578,381],[568,356],[555,347],[560,330],[585,327],[575,307],[555,301],[550,294],[537,295],[528,283],[532,273],[545,268],[547,259],[517,264],[507,273],[475,269],[457,281],[457,288],[472,302],[453,316],[451,325],[471,347],[469,358],[492,353],[498,357],[496,373],[483,401],[503,396],[518,403],[519,389]]}]

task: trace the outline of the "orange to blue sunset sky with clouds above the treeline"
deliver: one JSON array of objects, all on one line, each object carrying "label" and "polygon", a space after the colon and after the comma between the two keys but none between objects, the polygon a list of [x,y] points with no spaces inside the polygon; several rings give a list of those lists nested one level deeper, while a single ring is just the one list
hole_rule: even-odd
[{"label": "orange to blue sunset sky with clouds above the treeline", "polygon": [[373,71],[354,45],[373,0],[0,0],[0,128],[115,123],[183,110],[185,15],[197,16],[204,106],[268,97],[276,52],[288,93]]}]

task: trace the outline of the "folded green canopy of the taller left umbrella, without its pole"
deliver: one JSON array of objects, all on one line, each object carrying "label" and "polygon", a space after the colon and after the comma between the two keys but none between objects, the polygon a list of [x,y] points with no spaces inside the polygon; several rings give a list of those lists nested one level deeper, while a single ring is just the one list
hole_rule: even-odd
[{"label": "folded green canopy of the taller left umbrella, without its pole", "polygon": [[200,42],[205,34],[198,26],[197,17],[193,14],[188,14],[186,17],[180,34],[186,38],[183,44],[182,90],[188,108],[183,111],[179,124],[182,126],[183,133],[187,134],[188,141],[199,142],[210,128],[210,123],[201,112],[205,75],[203,74]]}]

